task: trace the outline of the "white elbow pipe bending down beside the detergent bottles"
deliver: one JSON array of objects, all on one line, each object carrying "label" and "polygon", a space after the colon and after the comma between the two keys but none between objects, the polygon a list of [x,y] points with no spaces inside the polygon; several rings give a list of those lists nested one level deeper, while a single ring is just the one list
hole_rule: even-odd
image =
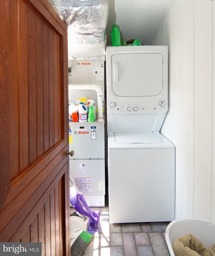
[{"label": "white elbow pipe bending down beside the detergent bottles", "polygon": [[98,116],[97,121],[103,121],[103,93],[101,88],[96,84],[69,84],[69,89],[82,89],[82,90],[95,90],[97,92],[97,101],[98,101]]}]

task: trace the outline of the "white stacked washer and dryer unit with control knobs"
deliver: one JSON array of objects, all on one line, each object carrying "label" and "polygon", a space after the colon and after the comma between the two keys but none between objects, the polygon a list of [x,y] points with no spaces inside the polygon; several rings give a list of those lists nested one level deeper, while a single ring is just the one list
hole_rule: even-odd
[{"label": "white stacked washer and dryer unit with control knobs", "polygon": [[161,133],[168,110],[167,46],[106,47],[110,223],[175,218],[175,149]]}]

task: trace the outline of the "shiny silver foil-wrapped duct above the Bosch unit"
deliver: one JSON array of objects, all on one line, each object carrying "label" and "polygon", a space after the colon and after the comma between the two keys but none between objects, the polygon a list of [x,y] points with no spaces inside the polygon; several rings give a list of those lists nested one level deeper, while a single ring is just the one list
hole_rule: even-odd
[{"label": "shiny silver foil-wrapped duct above the Bosch unit", "polygon": [[104,61],[108,0],[49,2],[68,27],[68,61]]}]

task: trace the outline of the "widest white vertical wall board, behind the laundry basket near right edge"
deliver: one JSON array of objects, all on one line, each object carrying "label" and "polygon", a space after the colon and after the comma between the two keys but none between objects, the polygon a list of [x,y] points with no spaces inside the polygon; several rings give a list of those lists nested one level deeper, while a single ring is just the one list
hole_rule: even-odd
[{"label": "widest white vertical wall board, behind the laundry basket near right edge", "polygon": [[194,217],[210,219],[212,185],[212,1],[195,1],[194,10]]}]

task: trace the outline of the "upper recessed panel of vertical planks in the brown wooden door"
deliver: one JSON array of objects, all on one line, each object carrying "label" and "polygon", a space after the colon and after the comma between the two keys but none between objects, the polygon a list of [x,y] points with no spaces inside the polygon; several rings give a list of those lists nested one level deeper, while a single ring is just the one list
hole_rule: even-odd
[{"label": "upper recessed panel of vertical planks in the brown wooden door", "polygon": [[25,0],[11,2],[9,25],[9,134],[18,152],[10,156],[13,181],[62,139],[63,80],[61,37],[35,8]]}]

